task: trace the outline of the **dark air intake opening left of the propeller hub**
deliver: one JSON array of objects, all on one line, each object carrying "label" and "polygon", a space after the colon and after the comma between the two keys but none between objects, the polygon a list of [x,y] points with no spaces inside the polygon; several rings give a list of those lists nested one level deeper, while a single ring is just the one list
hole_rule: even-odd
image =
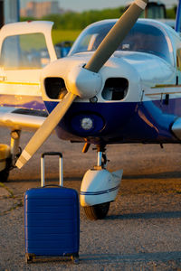
[{"label": "dark air intake opening left of the propeller hub", "polygon": [[44,80],[46,95],[49,98],[62,99],[67,94],[64,80],[59,77],[48,77]]}]

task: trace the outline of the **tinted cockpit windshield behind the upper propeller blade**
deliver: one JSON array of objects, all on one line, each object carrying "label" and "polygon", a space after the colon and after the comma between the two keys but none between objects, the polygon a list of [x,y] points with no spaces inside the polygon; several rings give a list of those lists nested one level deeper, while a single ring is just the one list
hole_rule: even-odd
[{"label": "tinted cockpit windshield behind the upper propeller blade", "polygon": [[[116,22],[106,22],[88,27],[74,43],[70,55],[82,51],[95,51]],[[143,51],[157,55],[170,62],[171,56],[165,34],[156,26],[137,22],[118,51]]]}]

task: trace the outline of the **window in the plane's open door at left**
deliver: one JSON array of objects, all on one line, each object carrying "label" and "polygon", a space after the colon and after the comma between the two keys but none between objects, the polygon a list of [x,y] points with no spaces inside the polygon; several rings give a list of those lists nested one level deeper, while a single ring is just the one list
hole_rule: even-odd
[{"label": "window in the plane's open door at left", "polygon": [[50,62],[43,33],[6,37],[0,62],[5,70],[42,69]]}]

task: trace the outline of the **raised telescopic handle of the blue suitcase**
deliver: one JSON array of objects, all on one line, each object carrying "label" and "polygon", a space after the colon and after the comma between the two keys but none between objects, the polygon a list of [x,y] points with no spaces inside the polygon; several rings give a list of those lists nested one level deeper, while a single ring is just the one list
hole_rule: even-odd
[{"label": "raised telescopic handle of the blue suitcase", "polygon": [[62,174],[62,153],[59,152],[46,152],[41,155],[41,186],[44,186],[44,156],[59,156],[59,184],[63,186],[63,174]]}]

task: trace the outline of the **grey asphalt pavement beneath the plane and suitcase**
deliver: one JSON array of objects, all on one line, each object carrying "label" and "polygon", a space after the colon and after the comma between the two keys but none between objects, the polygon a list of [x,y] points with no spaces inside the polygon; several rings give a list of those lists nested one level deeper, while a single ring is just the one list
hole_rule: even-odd
[{"label": "grey asphalt pavement beneath the plane and suitcase", "polygon": [[[22,134],[21,145],[32,133]],[[1,143],[9,130],[0,128]],[[119,195],[105,220],[90,221],[81,208],[80,264],[63,259],[24,261],[24,192],[40,185],[40,155],[63,154],[64,186],[80,191],[83,174],[97,161],[95,151],[55,135],[22,170],[0,183],[0,271],[22,270],[181,270],[181,146],[110,145],[108,169],[123,169]],[[47,158],[46,181],[56,183],[58,162]]]}]

